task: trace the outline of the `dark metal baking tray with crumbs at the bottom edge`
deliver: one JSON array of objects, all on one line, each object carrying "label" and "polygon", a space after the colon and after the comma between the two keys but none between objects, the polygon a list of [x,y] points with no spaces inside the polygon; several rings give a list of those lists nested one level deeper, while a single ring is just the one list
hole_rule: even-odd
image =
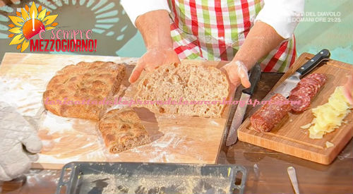
[{"label": "dark metal baking tray with crumbs at the bottom edge", "polygon": [[71,162],[56,194],[243,193],[246,169],[232,164]]}]

